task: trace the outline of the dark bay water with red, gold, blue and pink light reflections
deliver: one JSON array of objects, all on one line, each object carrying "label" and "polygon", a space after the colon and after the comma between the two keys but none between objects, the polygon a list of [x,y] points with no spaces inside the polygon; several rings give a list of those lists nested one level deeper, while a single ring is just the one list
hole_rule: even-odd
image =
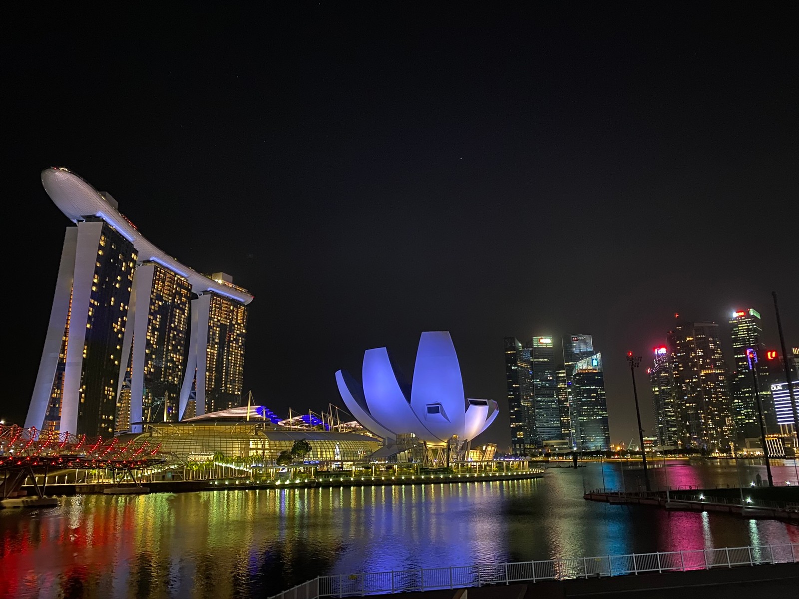
[{"label": "dark bay water with red, gold, blue and pink light reflections", "polygon": [[[796,484],[786,463],[774,479]],[[723,461],[654,466],[654,486],[765,481]],[[606,462],[527,481],[63,498],[0,510],[0,597],[244,599],[328,573],[799,542],[783,522],[582,499],[640,484]]]}]

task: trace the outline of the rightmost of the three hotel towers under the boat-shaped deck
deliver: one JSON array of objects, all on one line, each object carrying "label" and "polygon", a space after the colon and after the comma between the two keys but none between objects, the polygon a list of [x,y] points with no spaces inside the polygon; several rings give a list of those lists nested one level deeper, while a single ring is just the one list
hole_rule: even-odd
[{"label": "rightmost of the three hotel towers under the boat-shaped deck", "polygon": [[[224,272],[210,278],[246,293]],[[181,388],[181,414],[187,408],[188,415],[201,415],[240,405],[246,333],[244,303],[214,292],[192,300],[192,340]]]}]

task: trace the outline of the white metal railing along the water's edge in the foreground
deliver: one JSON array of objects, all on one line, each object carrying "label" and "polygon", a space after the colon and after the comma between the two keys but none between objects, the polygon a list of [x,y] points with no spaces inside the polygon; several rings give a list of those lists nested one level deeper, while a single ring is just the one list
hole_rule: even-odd
[{"label": "white metal railing along the water's edge in the foreground", "polygon": [[392,572],[320,576],[279,593],[272,599],[361,597],[381,593],[459,589],[468,586],[510,585],[622,576],[646,572],[676,572],[739,565],[783,564],[799,561],[799,543],[753,545],[694,551],[629,553],[602,557],[574,557],[505,564],[477,564],[447,568],[419,568]]}]

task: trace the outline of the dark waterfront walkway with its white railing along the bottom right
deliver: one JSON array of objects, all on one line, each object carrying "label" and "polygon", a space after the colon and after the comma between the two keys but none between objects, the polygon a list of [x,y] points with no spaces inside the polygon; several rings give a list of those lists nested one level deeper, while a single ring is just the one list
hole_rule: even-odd
[{"label": "dark waterfront walkway with its white railing along the bottom right", "polygon": [[[627,596],[627,591],[646,590],[648,593],[651,589],[670,589],[674,592],[690,586],[726,585],[731,580],[729,574],[720,575],[716,572],[729,573],[732,569],[744,569],[741,566],[750,566],[746,568],[749,573],[741,575],[750,583],[787,578],[790,580],[785,582],[785,585],[790,589],[794,584],[792,579],[799,576],[797,562],[799,562],[799,543],[572,557],[391,572],[333,574],[316,577],[301,585],[296,585],[292,589],[275,595],[272,599],[357,597],[398,592],[403,593],[403,596],[406,596],[404,593],[407,592],[417,592],[422,593],[418,595],[421,597],[454,597],[453,590],[465,588],[469,589],[470,597],[578,597],[605,593],[609,593],[609,596],[624,593]],[[776,572],[773,569],[774,565],[784,565],[785,567],[780,568],[784,574],[775,577],[773,575]],[[766,572],[766,569],[771,569],[771,572]],[[697,572],[706,572],[706,576],[702,577]],[[650,576],[646,577],[648,580],[644,582],[640,582],[644,580],[644,577],[635,581],[640,574],[654,573],[690,574],[690,577],[682,577],[682,579],[671,577],[671,581],[669,581],[667,577]],[[736,576],[737,574],[733,574],[732,578]],[[602,579],[616,577],[619,577],[618,581],[602,581]],[[562,588],[557,590],[557,585],[562,585],[562,581],[577,581],[578,579],[582,579],[582,586],[573,585],[572,588],[582,589],[582,592],[565,594]],[[632,581],[625,582],[626,579]],[[705,582],[702,582],[702,579]],[[544,583],[547,582],[550,584],[545,585]],[[592,583],[596,584],[592,585]],[[510,590],[511,585],[515,587],[515,594]],[[602,585],[606,588],[602,589]],[[594,586],[594,590],[590,590],[591,586]],[[473,587],[478,587],[478,589],[473,592]],[[479,587],[488,588],[479,589]],[[532,593],[530,592],[531,588],[534,588]],[[795,589],[795,586],[793,588]],[[545,594],[547,592],[560,594]],[[689,594],[689,596],[694,595]],[[755,593],[754,596],[761,596],[761,593]],[[655,597],[655,595],[647,594],[646,597]],[[669,597],[673,597],[673,595],[669,595]]]}]

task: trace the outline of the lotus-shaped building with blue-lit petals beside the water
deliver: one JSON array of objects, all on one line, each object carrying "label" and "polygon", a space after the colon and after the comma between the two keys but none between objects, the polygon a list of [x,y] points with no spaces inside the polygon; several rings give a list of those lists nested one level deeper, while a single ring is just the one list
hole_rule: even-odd
[{"label": "lotus-shaped building with blue-lit petals beside the water", "polygon": [[336,372],[336,383],[358,422],[388,443],[408,433],[431,445],[454,436],[471,441],[499,413],[491,399],[466,399],[448,331],[422,333],[412,384],[392,365],[385,347],[364,352],[363,385],[347,371]]}]

